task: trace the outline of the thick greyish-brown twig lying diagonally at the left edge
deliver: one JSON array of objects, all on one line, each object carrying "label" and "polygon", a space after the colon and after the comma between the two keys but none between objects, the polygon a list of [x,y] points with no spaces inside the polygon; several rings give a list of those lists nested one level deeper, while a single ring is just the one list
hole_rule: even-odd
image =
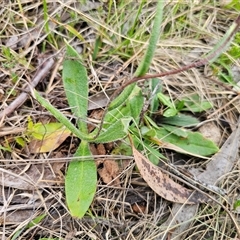
[{"label": "thick greyish-brown twig lying diagonally at the left edge", "polygon": [[[32,82],[30,82],[31,88],[35,88],[39,81],[41,81],[53,67],[54,60],[49,58],[44,61],[34,74]],[[5,116],[11,114],[16,108],[20,107],[28,98],[28,93],[30,92],[30,86],[26,86],[24,92],[22,92],[6,109],[0,112],[0,119],[3,119]]]}]

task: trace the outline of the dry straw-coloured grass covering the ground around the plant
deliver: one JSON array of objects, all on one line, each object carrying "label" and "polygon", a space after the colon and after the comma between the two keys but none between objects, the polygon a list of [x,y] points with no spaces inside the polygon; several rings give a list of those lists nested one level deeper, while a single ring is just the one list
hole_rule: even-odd
[{"label": "dry straw-coloured grass covering the ground around the plant", "polygon": [[[0,111],[25,90],[39,64],[54,55],[55,67],[36,88],[45,92],[44,95],[54,106],[70,115],[61,80],[64,38],[83,53],[90,94],[120,86],[132,76],[144,54],[154,16],[154,1],[143,5],[132,33],[128,30],[137,14],[138,1],[100,1],[92,4],[86,1],[90,10],[82,7],[86,4],[77,4],[77,1],[71,1],[71,4],[53,1],[47,3],[47,11],[43,2],[0,3]],[[166,4],[161,26],[163,34],[151,73],[171,70],[198,59],[211,49],[237,15],[236,11],[224,8],[218,1],[177,2],[184,1],[169,1]],[[99,48],[97,40],[101,42]],[[235,60],[235,65],[239,67],[239,61]],[[220,80],[209,66],[162,80],[164,91],[174,101],[196,92],[212,102],[213,109],[199,116],[201,119],[215,120],[219,126],[226,122],[230,127],[237,122],[239,99],[229,100],[231,86],[216,84]],[[72,159],[78,140],[69,137],[50,153],[30,153],[16,142],[17,137],[24,136],[29,116],[34,122],[52,120],[50,114],[30,96],[22,106],[1,119],[1,173],[18,170],[9,185],[1,186],[2,239],[150,240],[163,239],[164,234],[173,239],[161,226],[171,216],[172,203],[161,199],[143,182],[134,168],[134,161],[128,162],[120,174],[117,187],[106,185],[99,178],[97,193],[88,214],[81,220],[72,218],[65,205],[63,182],[67,163]],[[228,129],[222,127],[220,130],[223,143],[230,129],[228,126]],[[107,155],[105,158],[113,157]],[[122,161],[129,159],[128,156],[126,160],[122,157]],[[41,187],[35,190],[14,187],[24,172],[43,165],[56,174],[54,181],[43,181]],[[1,174],[0,178],[4,176]],[[232,172],[223,176],[222,180],[233,204],[239,199],[238,160]],[[46,216],[39,224],[28,226],[31,220],[43,214]],[[233,214],[239,222],[239,215]],[[19,236],[14,238],[16,233]],[[234,225],[220,206],[203,204],[184,239],[237,239],[237,235]]]}]

